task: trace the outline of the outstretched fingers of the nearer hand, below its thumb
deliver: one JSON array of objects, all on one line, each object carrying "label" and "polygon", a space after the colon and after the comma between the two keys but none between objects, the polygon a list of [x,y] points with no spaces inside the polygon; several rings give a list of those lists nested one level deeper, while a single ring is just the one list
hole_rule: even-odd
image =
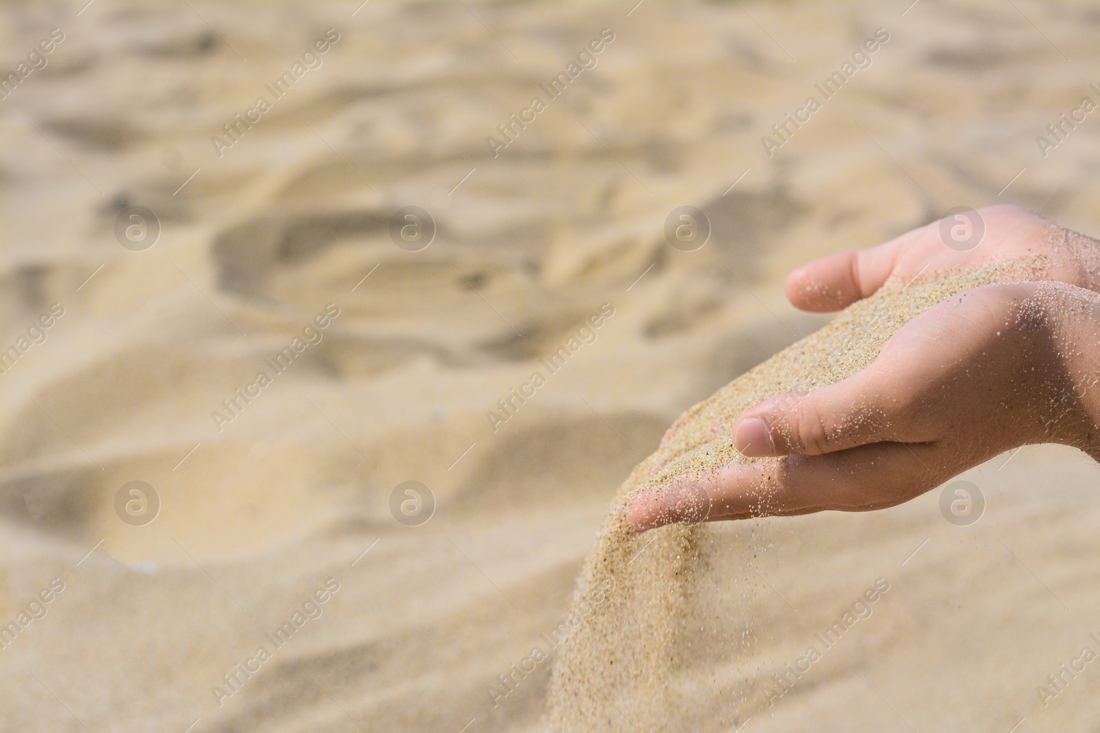
[{"label": "outstretched fingers of the nearer hand, below its thumb", "polygon": [[641,532],[684,521],[886,509],[970,467],[944,469],[945,452],[928,444],[877,443],[822,456],[733,464],[700,480],[639,492],[627,507],[627,522]]}]

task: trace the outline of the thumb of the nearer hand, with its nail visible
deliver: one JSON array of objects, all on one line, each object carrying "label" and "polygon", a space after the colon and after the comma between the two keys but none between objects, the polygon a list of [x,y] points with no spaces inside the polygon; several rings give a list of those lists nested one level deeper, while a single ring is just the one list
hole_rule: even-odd
[{"label": "thumb of the nearer hand, with its nail visible", "polygon": [[877,370],[868,367],[835,385],[769,398],[737,418],[734,446],[745,456],[758,457],[822,455],[901,441],[891,423],[905,424],[898,420],[903,404],[888,397],[881,382]]}]

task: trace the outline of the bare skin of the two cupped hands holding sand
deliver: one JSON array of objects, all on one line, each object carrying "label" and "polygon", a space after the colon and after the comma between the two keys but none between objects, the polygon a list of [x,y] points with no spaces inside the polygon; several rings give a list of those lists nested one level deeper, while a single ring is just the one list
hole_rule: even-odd
[{"label": "bare skin of the two cupped hands holding sand", "polygon": [[[706,521],[884,509],[1034,443],[1071,445],[1100,460],[1100,295],[1086,289],[1094,288],[1090,247],[1100,247],[1020,209],[981,213],[981,246],[992,253],[955,252],[922,227],[791,274],[788,295],[805,310],[847,306],[922,268],[1007,257],[1042,255],[1050,279],[944,300],[900,329],[862,371],[746,410],[733,426],[738,451],[779,458],[701,479]],[[668,511],[654,496],[641,492],[627,508],[635,530],[698,521],[698,507]]]}]

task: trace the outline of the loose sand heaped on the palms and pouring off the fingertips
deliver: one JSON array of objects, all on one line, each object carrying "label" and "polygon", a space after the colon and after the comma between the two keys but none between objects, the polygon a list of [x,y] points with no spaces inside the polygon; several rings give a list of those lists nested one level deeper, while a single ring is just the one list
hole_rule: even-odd
[{"label": "loose sand heaped on the palms and pouring off the fingertips", "polygon": [[[743,410],[859,371],[895,331],[945,298],[1034,279],[1042,269],[1036,257],[888,282],[676,420],[619,488],[581,570],[571,615],[580,621],[559,646],[546,726],[586,733],[728,731],[757,714],[760,696],[750,670],[738,662],[751,647],[759,620],[747,612],[738,618],[736,596],[747,589],[723,574],[737,555],[744,559],[755,549],[744,540],[726,540],[715,524],[676,523],[634,533],[626,520],[630,498],[658,490],[671,502],[697,504],[698,489],[693,496],[690,487],[700,477],[729,463],[779,460],[749,459],[734,447],[730,427]],[[670,481],[681,488],[668,492]],[[758,513],[766,515],[767,492],[759,497]],[[701,679],[712,689],[701,689]],[[726,720],[695,720],[698,710],[716,708]]]}]

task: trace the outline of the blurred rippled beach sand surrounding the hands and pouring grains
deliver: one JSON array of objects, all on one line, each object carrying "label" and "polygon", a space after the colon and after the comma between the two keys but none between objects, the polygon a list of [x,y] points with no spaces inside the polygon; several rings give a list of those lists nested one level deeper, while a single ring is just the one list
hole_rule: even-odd
[{"label": "blurred rippled beach sand surrounding the hands and pouring grains", "polygon": [[[536,730],[548,664],[496,706],[488,686],[561,621],[664,427],[824,322],[784,302],[791,267],[960,204],[1100,232],[1100,112],[1046,157],[1035,141],[1100,100],[1100,11],[906,5],[2,5],[4,74],[65,40],[0,101],[0,347],[65,311],[0,375],[0,625],[64,582],[0,649],[0,730]],[[330,27],[219,157],[211,136]],[[605,27],[595,68],[493,157]],[[761,136],[879,27],[769,158]],[[130,206],[161,223],[143,252],[113,233]],[[391,240],[406,206],[438,226],[419,252]],[[664,240],[681,206],[712,222],[696,252]],[[320,343],[219,432],[211,411],[327,303]],[[596,340],[494,432],[486,411],[602,303]],[[1046,707],[1035,687],[1100,651],[1100,470],[1005,458],[967,476],[987,500],[968,527],[938,491],[724,527],[752,547],[712,576],[744,589],[750,689],[891,590],[770,714],[745,723],[701,664],[676,680],[684,730],[1094,730],[1100,664]],[[143,526],[114,509],[132,480],[161,501]],[[391,514],[406,480],[437,502],[420,526]],[[328,578],[321,615],[219,707]]]}]

